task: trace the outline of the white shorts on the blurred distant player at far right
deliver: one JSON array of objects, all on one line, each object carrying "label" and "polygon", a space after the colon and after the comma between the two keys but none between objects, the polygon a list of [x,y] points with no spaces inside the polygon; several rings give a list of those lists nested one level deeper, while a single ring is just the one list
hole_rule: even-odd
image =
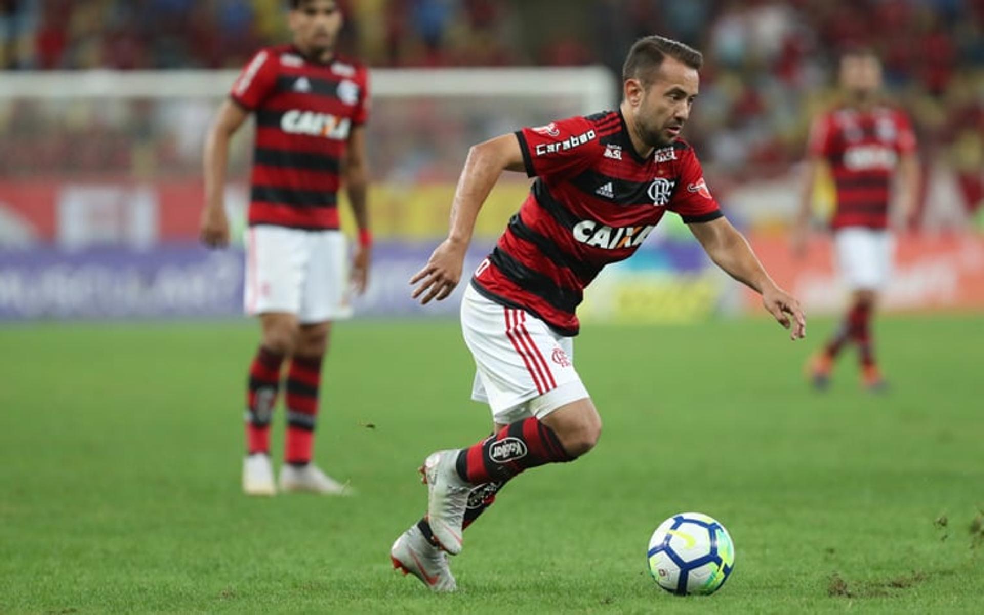
[{"label": "white shorts on the blurred distant player at far right", "polygon": [[850,226],[834,232],[840,276],[851,290],[877,290],[892,274],[894,240],[887,230]]}]

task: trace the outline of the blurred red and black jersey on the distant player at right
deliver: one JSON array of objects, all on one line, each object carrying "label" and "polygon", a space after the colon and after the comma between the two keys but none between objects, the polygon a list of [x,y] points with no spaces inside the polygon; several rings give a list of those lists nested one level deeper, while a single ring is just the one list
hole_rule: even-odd
[{"label": "blurred red and black jersey on the distant player at right", "polygon": [[818,117],[810,136],[810,154],[830,164],[836,191],[830,225],[886,228],[892,174],[899,156],[915,149],[909,120],[897,109],[843,107]]}]

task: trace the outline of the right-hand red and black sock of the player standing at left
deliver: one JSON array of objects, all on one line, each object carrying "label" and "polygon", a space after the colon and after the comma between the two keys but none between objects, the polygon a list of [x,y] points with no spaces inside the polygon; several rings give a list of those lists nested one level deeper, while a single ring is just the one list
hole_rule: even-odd
[{"label": "right-hand red and black sock of the player standing at left", "polygon": [[287,369],[287,435],[284,461],[303,465],[311,461],[314,429],[318,420],[321,387],[320,356],[294,356]]}]

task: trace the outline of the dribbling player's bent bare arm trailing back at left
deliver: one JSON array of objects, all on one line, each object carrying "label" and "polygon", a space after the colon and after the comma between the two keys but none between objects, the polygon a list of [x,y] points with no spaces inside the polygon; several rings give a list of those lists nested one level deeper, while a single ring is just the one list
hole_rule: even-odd
[{"label": "dribbling player's bent bare arm trailing back at left", "polygon": [[504,170],[526,170],[520,142],[515,134],[490,139],[468,150],[455,188],[448,238],[434,250],[427,265],[410,278],[410,284],[419,282],[411,294],[414,299],[423,295],[421,303],[428,303],[431,299],[441,300],[458,285],[464,253],[471,242],[478,211]]}]

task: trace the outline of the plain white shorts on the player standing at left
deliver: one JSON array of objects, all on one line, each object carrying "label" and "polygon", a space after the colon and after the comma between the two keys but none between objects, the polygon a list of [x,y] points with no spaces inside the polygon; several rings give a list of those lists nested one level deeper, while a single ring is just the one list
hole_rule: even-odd
[{"label": "plain white shorts on the player standing at left", "polygon": [[341,232],[268,225],[247,229],[247,314],[286,312],[304,324],[348,318],[349,286]]}]

